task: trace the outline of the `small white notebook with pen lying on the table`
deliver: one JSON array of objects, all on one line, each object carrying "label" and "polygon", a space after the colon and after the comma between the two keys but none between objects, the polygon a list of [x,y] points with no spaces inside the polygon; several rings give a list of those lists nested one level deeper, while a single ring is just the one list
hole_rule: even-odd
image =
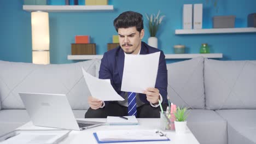
[{"label": "small white notebook with pen lying on the table", "polygon": [[[125,119],[125,118],[127,119]],[[107,117],[107,123],[109,125],[134,125],[138,124],[135,116],[124,116],[124,117]]]}]

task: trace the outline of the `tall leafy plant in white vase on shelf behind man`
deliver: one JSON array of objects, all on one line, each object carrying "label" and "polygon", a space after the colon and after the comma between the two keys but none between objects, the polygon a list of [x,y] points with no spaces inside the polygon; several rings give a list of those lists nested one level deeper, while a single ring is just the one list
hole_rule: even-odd
[{"label": "tall leafy plant in white vase on shelf behind man", "polygon": [[158,38],[156,38],[156,33],[158,32],[159,26],[161,25],[162,19],[165,15],[160,16],[160,10],[158,14],[151,14],[150,17],[146,14],[148,19],[148,30],[150,38],[148,38],[148,45],[158,48]]}]

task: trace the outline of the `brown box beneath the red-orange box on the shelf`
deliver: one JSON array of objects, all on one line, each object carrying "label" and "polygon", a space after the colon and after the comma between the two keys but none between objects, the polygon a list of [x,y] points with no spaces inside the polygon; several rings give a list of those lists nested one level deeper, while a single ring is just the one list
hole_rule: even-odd
[{"label": "brown box beneath the red-orange box on the shelf", "polygon": [[71,55],[96,55],[96,44],[71,44]]}]

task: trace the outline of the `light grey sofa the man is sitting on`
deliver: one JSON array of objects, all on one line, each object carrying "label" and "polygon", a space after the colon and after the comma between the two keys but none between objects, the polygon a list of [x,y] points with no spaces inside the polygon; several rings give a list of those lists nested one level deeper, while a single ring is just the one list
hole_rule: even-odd
[{"label": "light grey sofa the man is sitting on", "polygon": [[[90,95],[81,67],[98,77],[100,59],[36,65],[0,61],[0,135],[29,121],[18,92],[63,93],[77,118]],[[200,143],[256,143],[256,61],[202,57],[167,64],[168,97],[190,107],[188,127]]]}]

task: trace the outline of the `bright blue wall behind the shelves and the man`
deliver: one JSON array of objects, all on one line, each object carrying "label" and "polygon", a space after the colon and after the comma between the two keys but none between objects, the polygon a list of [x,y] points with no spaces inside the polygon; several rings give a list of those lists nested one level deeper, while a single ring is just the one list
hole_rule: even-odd
[{"label": "bright blue wall behind the shelves and the man", "polygon": [[[165,54],[173,53],[172,47],[176,44],[186,45],[188,53],[198,53],[201,43],[208,43],[212,53],[223,53],[223,60],[256,59],[256,33],[175,35],[175,29],[182,28],[183,4],[190,3],[203,3],[203,28],[212,27],[211,17],[214,15],[236,15],[235,27],[246,27],[247,15],[256,13],[255,0],[219,0],[218,13],[212,0],[109,0],[109,4],[114,5],[114,11],[49,13],[50,61],[75,62],[67,59],[75,35],[90,35],[91,42],[97,44],[97,54],[102,55],[107,51],[107,43],[112,42],[112,35],[117,34],[113,27],[114,18],[127,10],[138,11],[144,16],[161,10],[166,15],[157,35],[159,49]],[[32,61],[31,14],[22,10],[22,4],[21,0],[0,0],[0,60]],[[147,42],[146,23],[144,17],[146,35],[143,41]]]}]

